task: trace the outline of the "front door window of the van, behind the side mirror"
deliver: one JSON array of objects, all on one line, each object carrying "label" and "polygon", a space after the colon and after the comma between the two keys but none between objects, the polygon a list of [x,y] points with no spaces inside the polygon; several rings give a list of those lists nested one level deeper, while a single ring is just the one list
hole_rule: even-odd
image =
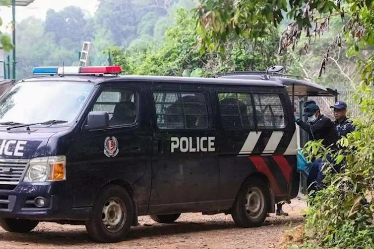
[{"label": "front door window of the van, behind the side mirror", "polygon": [[137,94],[133,90],[108,87],[102,90],[92,111],[107,111],[109,126],[134,124],[137,116]]}]

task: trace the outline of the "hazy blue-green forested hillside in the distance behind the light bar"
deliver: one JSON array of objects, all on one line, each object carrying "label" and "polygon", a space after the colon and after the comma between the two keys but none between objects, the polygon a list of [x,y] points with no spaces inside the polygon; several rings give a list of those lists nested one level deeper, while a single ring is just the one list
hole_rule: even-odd
[{"label": "hazy blue-green forested hillside in the distance behind the light bar", "polygon": [[[45,21],[25,18],[17,23],[16,78],[32,76],[32,68],[37,66],[77,65],[85,41],[93,43],[91,65],[107,65],[108,54],[102,53],[107,47],[139,50],[158,43],[175,23],[177,9],[190,10],[196,5],[197,0],[100,0],[92,16],[67,6],[48,10]],[[7,44],[9,37],[0,34],[0,42]]]}]

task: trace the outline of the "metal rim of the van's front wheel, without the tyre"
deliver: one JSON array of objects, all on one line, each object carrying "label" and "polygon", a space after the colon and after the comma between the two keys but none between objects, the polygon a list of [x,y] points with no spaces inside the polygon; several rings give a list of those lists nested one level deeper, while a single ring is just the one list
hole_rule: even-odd
[{"label": "metal rim of the van's front wheel, without the tyre", "polygon": [[117,233],[125,225],[126,206],[118,197],[109,198],[102,208],[102,224],[110,233]]}]

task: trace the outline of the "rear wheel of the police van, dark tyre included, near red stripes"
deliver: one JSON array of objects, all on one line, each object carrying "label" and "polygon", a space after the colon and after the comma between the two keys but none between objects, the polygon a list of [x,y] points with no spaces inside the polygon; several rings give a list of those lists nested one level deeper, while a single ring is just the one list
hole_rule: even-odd
[{"label": "rear wheel of the police van, dark tyre included, near red stripes", "polygon": [[[252,203],[251,205],[247,205],[247,198]],[[231,211],[235,224],[244,228],[260,227],[267,217],[269,200],[270,193],[267,184],[260,179],[247,179],[240,188]]]}]

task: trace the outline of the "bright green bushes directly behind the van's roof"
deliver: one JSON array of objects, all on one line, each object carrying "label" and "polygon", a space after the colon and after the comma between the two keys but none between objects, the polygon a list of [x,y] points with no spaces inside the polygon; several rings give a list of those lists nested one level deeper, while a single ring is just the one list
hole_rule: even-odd
[{"label": "bright green bushes directly behind the van's roof", "polygon": [[124,68],[125,74],[185,77],[264,70],[276,63],[279,37],[275,29],[257,39],[233,38],[225,43],[224,53],[201,53],[196,37],[196,22],[189,12],[180,9],[175,24],[166,30],[164,40],[151,41],[145,47],[112,48],[113,61]]}]

